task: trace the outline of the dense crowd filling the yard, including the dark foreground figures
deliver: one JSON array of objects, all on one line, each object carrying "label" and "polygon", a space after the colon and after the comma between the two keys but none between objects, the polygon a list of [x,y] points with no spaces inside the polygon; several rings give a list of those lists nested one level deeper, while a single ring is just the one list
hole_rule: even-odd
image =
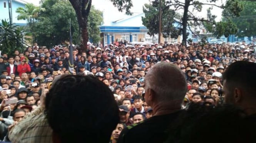
[{"label": "dense crowd filling the yard, including the dark foreground figures", "polygon": [[[49,48],[34,43],[24,52],[1,53],[1,140],[188,142],[194,138],[185,136],[181,127],[187,132],[207,130],[203,126],[207,123],[189,126],[188,119],[226,121],[232,116],[238,118],[232,123],[255,122],[253,43],[95,47],[88,42],[86,51],[74,47],[70,56],[69,50],[68,46]],[[68,75],[70,57],[74,75]],[[233,111],[229,116],[223,109],[226,104],[243,110],[229,107]],[[217,118],[223,112],[227,118]],[[208,121],[214,123],[214,119]]]}]

